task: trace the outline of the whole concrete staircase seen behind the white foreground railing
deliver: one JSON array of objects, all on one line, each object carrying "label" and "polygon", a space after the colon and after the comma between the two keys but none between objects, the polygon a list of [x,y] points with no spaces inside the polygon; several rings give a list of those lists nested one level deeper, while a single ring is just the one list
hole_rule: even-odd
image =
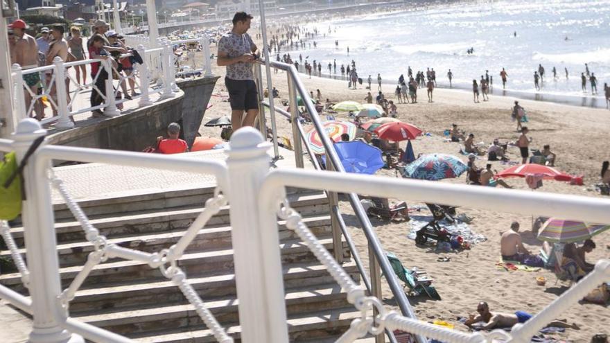
[{"label": "whole concrete staircase seen behind the white foreground railing", "polygon": [[[146,252],[170,247],[198,216],[214,188],[184,189],[80,202],[112,242]],[[333,251],[328,200],[320,192],[290,191],[289,200],[326,249]],[[60,278],[65,288],[92,252],[85,235],[64,204],[55,205]],[[308,248],[279,221],[281,259],[291,341],[328,340],[347,330],[359,316],[345,292]],[[19,247],[23,229],[12,228]],[[345,270],[356,281],[356,265],[343,243]],[[8,251],[0,256],[10,257]],[[209,220],[178,265],[220,324],[239,337],[238,299],[233,270],[229,208]],[[19,274],[3,274],[0,283],[27,294]],[[159,270],[135,261],[111,259],[98,265],[71,301],[72,317],[127,335],[137,342],[214,342],[195,309]]]}]

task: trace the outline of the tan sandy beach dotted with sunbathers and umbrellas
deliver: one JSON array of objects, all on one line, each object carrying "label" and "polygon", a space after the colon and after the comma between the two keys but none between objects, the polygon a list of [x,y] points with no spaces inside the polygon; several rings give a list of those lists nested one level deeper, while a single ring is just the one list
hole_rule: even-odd
[{"label": "tan sandy beach dotted with sunbathers and umbrellas", "polygon": [[[224,76],[225,69],[214,65],[214,73]],[[322,98],[331,101],[356,100],[364,102],[367,95],[365,85],[358,85],[358,89],[348,89],[347,81],[330,80],[326,78],[308,78],[302,75],[302,80],[308,91],[320,89]],[[286,99],[288,89],[286,74],[279,71],[273,73],[273,86],[279,90],[279,99]],[[376,89],[376,85],[373,86]],[[394,100],[394,87],[383,85],[385,96]],[[493,139],[500,141],[515,141],[518,138],[516,123],[511,121],[511,108],[514,98],[505,96],[489,96],[489,102],[473,103],[472,94],[468,91],[435,89],[434,102],[428,103],[426,94],[421,89],[418,92],[419,103],[397,104],[397,115],[401,121],[411,123],[429,132],[429,136],[418,137],[412,141],[415,155],[419,153],[442,152],[460,155],[462,143],[446,142],[443,131],[456,123],[467,134],[475,134],[476,142],[485,142],[489,145]],[[207,109],[204,122],[211,118],[230,114],[229,103],[226,101],[227,90],[223,77],[218,80],[214,96],[211,98],[211,107]],[[576,194],[591,197],[600,197],[599,192],[591,190],[591,186],[600,180],[601,163],[610,159],[607,150],[607,128],[610,127],[610,111],[607,109],[592,109],[569,105],[543,103],[534,100],[519,100],[527,110],[530,122],[529,136],[532,137],[532,148],[541,148],[550,144],[552,151],[557,153],[555,166],[566,173],[584,175],[584,186],[570,185],[566,182],[544,182],[537,192],[557,193],[558,195]],[[279,101],[276,103],[279,105]],[[338,120],[347,120],[345,114],[336,115]],[[277,128],[280,136],[292,137],[288,121],[277,116]],[[220,129],[217,127],[204,127],[200,129],[203,137],[219,137]],[[404,142],[401,147],[404,148]],[[519,161],[519,150],[508,148],[511,161]],[[485,167],[485,157],[476,160],[478,167]],[[491,162],[495,170],[501,171],[509,166],[498,161]],[[381,169],[376,175],[399,177],[395,170]],[[510,186],[518,189],[528,189],[521,178],[507,179]],[[458,179],[445,179],[442,182],[464,184],[465,175]],[[474,186],[473,186],[474,187]],[[399,199],[390,200],[390,202]],[[411,209],[417,209],[424,204],[408,204]],[[342,201],[342,212],[345,220],[351,225],[350,231],[356,241],[360,257],[367,265],[367,244],[365,236],[358,229],[358,223],[352,215],[351,206]],[[496,266],[500,258],[500,234],[509,229],[512,221],[521,223],[521,235],[525,246],[532,252],[538,252],[542,242],[537,240],[531,232],[530,216],[516,216],[512,213],[496,213],[460,207],[458,213],[464,213],[473,218],[469,225],[471,231],[482,234],[487,238],[485,242],[478,243],[470,250],[461,252],[439,253],[433,246],[418,247],[415,241],[408,239],[410,231],[409,222],[387,222],[372,219],[372,225],[388,252],[396,254],[406,267],[418,267],[428,272],[432,277],[442,300],[435,301],[426,297],[410,297],[411,304],[419,319],[426,321],[443,320],[455,325],[456,330],[467,331],[467,327],[458,322],[458,317],[467,317],[475,313],[478,301],[487,301],[492,311],[512,313],[523,310],[537,313],[544,306],[556,299],[558,294],[568,289],[568,283],[556,281],[550,270],[535,272],[512,271]],[[425,208],[412,211],[411,216],[430,216]],[[607,258],[610,254],[610,234],[602,233],[595,237],[597,248],[587,255],[589,262],[600,258]],[[448,262],[439,262],[439,256],[450,258]],[[544,276],[547,283],[537,285],[536,278]],[[385,303],[396,308],[392,300],[392,293],[383,282],[383,297]],[[577,304],[566,313],[557,314],[560,319],[568,319],[576,323],[580,330],[566,329],[565,333],[550,335],[558,340],[574,342],[589,342],[596,333],[610,333],[608,321],[610,311],[606,306],[596,304]]]}]

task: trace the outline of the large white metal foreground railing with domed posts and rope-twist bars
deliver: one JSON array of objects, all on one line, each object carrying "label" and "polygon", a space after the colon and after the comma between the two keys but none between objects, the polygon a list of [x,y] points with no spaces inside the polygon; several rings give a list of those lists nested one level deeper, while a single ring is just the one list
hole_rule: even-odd
[{"label": "large white metal foreground railing with domed posts and rope-twist bars", "polygon": [[[45,131],[42,130],[40,123],[31,118],[24,119],[17,126],[17,132],[13,135],[14,141],[0,139],[0,150],[15,150],[17,157],[21,159],[30,144],[44,134]],[[299,213],[290,208],[286,201],[286,187],[324,189],[342,193],[357,192],[380,197],[403,197],[410,201],[469,206],[528,216],[534,212],[541,216],[601,223],[610,222],[610,200],[576,195],[557,197],[550,193],[498,190],[370,175],[346,175],[319,170],[270,169],[268,155],[270,148],[270,143],[266,143],[262,135],[252,127],[244,127],[234,133],[227,150],[229,158],[226,164],[175,155],[148,155],[137,152],[43,145],[30,157],[24,170],[28,200],[24,202],[22,221],[27,268],[19,267],[19,272],[29,270],[29,274],[22,276],[29,277],[27,286],[31,301],[4,286],[0,286],[0,297],[33,313],[32,334],[37,338],[44,338],[44,342],[64,342],[69,337],[73,337],[71,342],[82,342],[82,339],[75,335],[76,333],[94,342],[130,342],[128,338],[71,319],[67,304],[92,266],[102,259],[120,257],[141,261],[150,267],[159,268],[164,275],[180,285],[187,299],[195,305],[216,338],[221,342],[230,342],[230,338],[215,322],[214,317],[206,312],[201,299],[186,287],[188,283],[184,281],[185,276],[176,265],[177,259],[182,256],[193,235],[225,202],[231,204],[229,216],[239,296],[238,310],[244,342],[288,342],[284,284],[277,244],[278,217],[286,220],[286,227],[294,230],[302,238],[347,292],[349,303],[362,313],[362,317],[354,319],[349,330],[338,342],[353,342],[367,333],[380,335],[386,328],[400,329],[451,343],[491,342],[491,340],[529,342],[530,337],[558,313],[576,304],[584,294],[600,283],[610,281],[610,260],[598,261],[591,274],[552,301],[528,322],[514,326],[510,333],[503,331],[487,334],[460,333],[403,317],[386,310],[380,299],[368,297],[365,290],[350,279],[340,264],[309,231]],[[53,159],[212,174],[216,176],[218,188],[215,196],[206,202],[204,211],[186,230],[178,243],[162,252],[150,254],[108,243],[90,225],[87,217],[80,211],[78,203],[71,199],[65,188],[62,188],[62,182],[53,177],[50,168]],[[245,166],[247,168],[244,168]],[[87,240],[95,248],[78,276],[64,291],[60,288],[58,274],[51,184],[60,189],[69,208],[85,230]],[[3,236],[6,236],[6,231],[3,229]],[[10,242],[10,238],[8,241]],[[10,243],[8,245],[11,252],[17,249]]]}]

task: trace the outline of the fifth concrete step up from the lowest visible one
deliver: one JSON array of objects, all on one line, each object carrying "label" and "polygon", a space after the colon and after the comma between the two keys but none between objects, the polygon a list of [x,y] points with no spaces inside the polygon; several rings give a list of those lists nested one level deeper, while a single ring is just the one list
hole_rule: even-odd
[{"label": "fifth concrete step up from the lowest visible one", "polygon": [[[174,211],[182,213],[164,213],[160,217],[171,217],[171,216],[182,216],[186,211]],[[114,218],[113,218],[114,219]],[[139,218],[140,220],[142,218]],[[160,219],[157,217],[157,219]],[[132,218],[132,221],[137,219]],[[125,223],[129,220],[116,220],[117,223]],[[171,220],[168,220],[171,221]],[[330,216],[308,216],[304,217],[304,222],[313,231],[316,236],[328,235],[331,232],[331,218]],[[125,225],[125,224],[124,224]],[[94,226],[96,226],[94,224]],[[96,226],[98,227],[98,226]],[[119,224],[116,224],[119,227]],[[80,227],[79,227],[80,228]],[[153,234],[139,234],[137,236],[122,236],[116,235],[116,238],[110,238],[107,236],[110,243],[115,243],[121,247],[130,247],[132,249],[138,249],[143,252],[159,252],[162,249],[171,247],[171,245],[177,243],[182,236],[184,236],[185,228],[173,227],[172,231],[164,231],[162,233],[154,232]],[[286,228],[286,222],[281,220],[278,222],[279,238],[280,240],[295,239],[297,234],[294,231],[290,231]],[[103,234],[103,232],[101,232]],[[198,236],[191,242],[187,252],[193,251],[206,251],[209,249],[221,249],[231,247],[231,227],[220,226],[220,227],[204,227],[200,229]],[[87,241],[77,241],[73,243],[58,244],[59,261],[62,267],[69,267],[72,265],[83,265],[87,261],[87,256],[94,250],[94,246]],[[19,249],[22,255],[25,254],[25,249]],[[0,258],[11,258],[10,251],[5,250],[0,252]],[[25,255],[24,255],[25,258]],[[112,260],[110,260],[112,261]]]}]

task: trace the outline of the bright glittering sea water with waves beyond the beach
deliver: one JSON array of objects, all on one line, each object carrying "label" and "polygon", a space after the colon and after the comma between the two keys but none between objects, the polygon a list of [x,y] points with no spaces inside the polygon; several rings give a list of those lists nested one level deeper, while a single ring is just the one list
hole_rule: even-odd
[{"label": "bright glittering sea water with waves beyond the beach", "polygon": [[[504,67],[511,95],[582,98],[583,105],[586,100],[586,105],[597,101],[605,106],[604,82],[610,82],[609,0],[458,1],[313,26],[326,33],[315,39],[317,49],[288,52],[293,60],[302,54],[309,62],[322,61],[324,74],[335,59],[338,66],[355,60],[358,76],[366,80],[370,74],[374,83],[377,73],[384,82],[394,83],[401,73],[407,76],[408,66],[414,73],[430,67],[437,72],[439,86],[448,87],[446,74],[451,69],[454,87],[470,89],[472,80],[489,70],[497,94]],[[472,55],[467,54],[469,48],[474,49]],[[585,63],[598,78],[597,97],[591,96],[589,81],[588,93],[581,89]],[[533,74],[539,64],[546,73],[541,91],[536,91]],[[557,68],[557,80],[552,67]]]}]

